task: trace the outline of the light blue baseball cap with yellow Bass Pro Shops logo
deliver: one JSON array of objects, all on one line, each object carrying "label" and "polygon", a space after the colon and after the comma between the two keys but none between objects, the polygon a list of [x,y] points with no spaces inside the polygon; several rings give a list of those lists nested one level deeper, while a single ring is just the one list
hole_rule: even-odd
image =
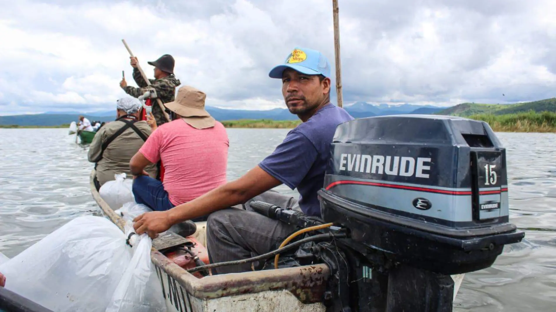
[{"label": "light blue baseball cap with yellow Bass Pro Shops logo", "polygon": [[282,73],[286,68],[294,69],[306,75],[319,75],[330,78],[330,63],[328,59],[319,51],[306,48],[294,48],[294,51],[287,56],[282,65],[271,69],[270,78],[282,79]]}]

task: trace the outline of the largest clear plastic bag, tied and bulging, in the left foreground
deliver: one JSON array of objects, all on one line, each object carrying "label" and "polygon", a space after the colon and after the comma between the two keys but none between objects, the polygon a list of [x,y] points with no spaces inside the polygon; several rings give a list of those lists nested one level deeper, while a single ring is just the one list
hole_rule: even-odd
[{"label": "largest clear plastic bag, tied and bulging, in the left foreground", "polygon": [[[131,233],[127,220],[126,232]],[[6,288],[53,311],[166,311],[146,235],[110,220],[71,220],[0,265]]]}]

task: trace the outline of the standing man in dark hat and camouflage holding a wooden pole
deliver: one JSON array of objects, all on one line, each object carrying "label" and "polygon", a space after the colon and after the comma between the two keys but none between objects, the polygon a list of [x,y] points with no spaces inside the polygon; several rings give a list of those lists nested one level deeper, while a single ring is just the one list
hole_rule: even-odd
[{"label": "standing man in dark hat and camouflage holding a wooden pole", "polygon": [[[124,42],[125,43],[125,42]],[[127,44],[126,44],[127,48]],[[128,51],[130,51],[128,49]],[[130,51],[131,54],[131,51]],[[131,54],[130,64],[133,67],[133,80],[139,86],[139,88],[134,88],[127,85],[126,79],[122,78],[120,82],[120,87],[127,94],[132,97],[138,98],[145,92],[149,91],[151,93],[150,99],[147,99],[147,105],[150,105],[150,100],[156,98],[156,102],[152,103],[152,114],[156,119],[157,125],[161,125],[170,121],[167,114],[165,113],[164,103],[173,102],[176,94],[176,87],[181,84],[180,80],[176,78],[173,74],[174,59],[169,54],[164,54],[154,62],[147,62],[149,65],[155,67],[154,74],[155,79],[147,79],[145,73],[141,70],[138,64],[137,57]]]}]

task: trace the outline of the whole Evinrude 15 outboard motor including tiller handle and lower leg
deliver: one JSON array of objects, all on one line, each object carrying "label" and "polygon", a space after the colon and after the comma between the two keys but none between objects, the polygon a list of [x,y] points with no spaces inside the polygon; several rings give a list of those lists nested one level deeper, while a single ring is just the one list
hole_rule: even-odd
[{"label": "whole Evinrude 15 outboard motor including tiller handle and lower leg", "polygon": [[[329,265],[329,311],[451,311],[450,274],[488,268],[505,244],[524,237],[508,220],[507,179],[505,149],[485,122],[439,115],[346,122],[319,191],[322,220],[251,203],[268,217],[319,228],[298,235],[307,242],[282,253],[281,265],[276,256],[265,268]],[[310,241],[322,233],[335,239]]]}]

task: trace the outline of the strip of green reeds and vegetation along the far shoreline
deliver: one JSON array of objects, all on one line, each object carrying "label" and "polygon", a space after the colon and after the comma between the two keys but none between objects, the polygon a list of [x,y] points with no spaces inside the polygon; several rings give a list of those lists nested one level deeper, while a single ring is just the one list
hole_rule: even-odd
[{"label": "strip of green reeds and vegetation along the far shoreline", "polygon": [[[517,114],[475,114],[470,119],[483,120],[495,132],[556,132],[556,113],[527,112]],[[271,119],[240,119],[221,121],[225,128],[271,128],[291,129],[301,123],[301,120],[271,120]],[[69,124],[56,126],[40,125],[0,125],[0,129],[28,129],[28,128],[69,128]]]}]

